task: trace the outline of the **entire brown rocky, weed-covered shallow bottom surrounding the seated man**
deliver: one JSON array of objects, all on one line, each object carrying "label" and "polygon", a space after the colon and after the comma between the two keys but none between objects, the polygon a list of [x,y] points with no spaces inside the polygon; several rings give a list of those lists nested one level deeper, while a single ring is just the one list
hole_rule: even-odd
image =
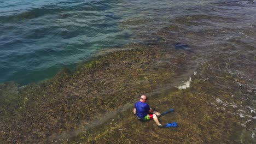
[{"label": "entire brown rocky, weed-covered shallow bottom surrounding the seated man", "polygon": [[[165,41],[125,48],[43,82],[2,83],[0,143],[255,142],[255,79],[239,72],[255,74],[255,57],[238,67],[227,53],[199,62]],[[159,112],[173,108],[160,122],[179,127],[138,121],[139,94]]]}]

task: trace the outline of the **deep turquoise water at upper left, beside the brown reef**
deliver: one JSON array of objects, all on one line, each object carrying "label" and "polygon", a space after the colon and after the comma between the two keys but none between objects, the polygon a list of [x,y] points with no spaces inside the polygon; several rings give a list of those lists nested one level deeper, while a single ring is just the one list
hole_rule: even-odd
[{"label": "deep turquoise water at upper left, beside the brown reef", "polygon": [[115,7],[115,1],[1,2],[0,82],[48,79],[97,50],[128,43]]}]

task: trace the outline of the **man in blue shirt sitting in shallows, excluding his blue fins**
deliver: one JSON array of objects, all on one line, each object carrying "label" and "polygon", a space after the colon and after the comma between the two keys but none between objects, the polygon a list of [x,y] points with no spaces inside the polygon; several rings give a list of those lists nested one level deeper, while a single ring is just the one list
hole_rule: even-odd
[{"label": "man in blue shirt sitting in shallows, excluding his blue fins", "polygon": [[141,99],[135,103],[135,108],[133,109],[133,113],[137,115],[137,117],[143,121],[148,121],[149,119],[154,119],[155,123],[162,127],[162,125],[158,121],[158,117],[161,114],[159,112],[153,111],[149,107],[147,103],[145,103],[147,100],[146,95],[142,95]]}]

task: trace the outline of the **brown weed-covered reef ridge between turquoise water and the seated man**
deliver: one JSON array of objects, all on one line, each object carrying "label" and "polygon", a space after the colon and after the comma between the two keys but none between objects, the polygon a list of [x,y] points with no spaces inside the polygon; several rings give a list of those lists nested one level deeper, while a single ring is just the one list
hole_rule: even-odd
[{"label": "brown weed-covered reef ridge between turquoise water and the seated man", "polygon": [[[1,142],[48,142],[63,131],[88,125],[138,93],[171,81],[184,64],[185,53],[168,57],[172,51],[129,46],[136,49],[97,57],[74,71],[63,68],[40,83],[1,84]],[[170,61],[172,67],[167,65]]]}]

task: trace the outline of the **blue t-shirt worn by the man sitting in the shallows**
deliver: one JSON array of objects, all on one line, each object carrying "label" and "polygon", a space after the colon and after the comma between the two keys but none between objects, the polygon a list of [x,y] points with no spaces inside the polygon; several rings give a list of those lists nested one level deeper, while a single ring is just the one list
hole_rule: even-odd
[{"label": "blue t-shirt worn by the man sitting in the shallows", "polygon": [[139,118],[144,118],[148,115],[148,111],[150,110],[150,107],[147,103],[142,103],[141,101],[138,101],[135,103],[135,109],[136,109],[136,115]]}]

